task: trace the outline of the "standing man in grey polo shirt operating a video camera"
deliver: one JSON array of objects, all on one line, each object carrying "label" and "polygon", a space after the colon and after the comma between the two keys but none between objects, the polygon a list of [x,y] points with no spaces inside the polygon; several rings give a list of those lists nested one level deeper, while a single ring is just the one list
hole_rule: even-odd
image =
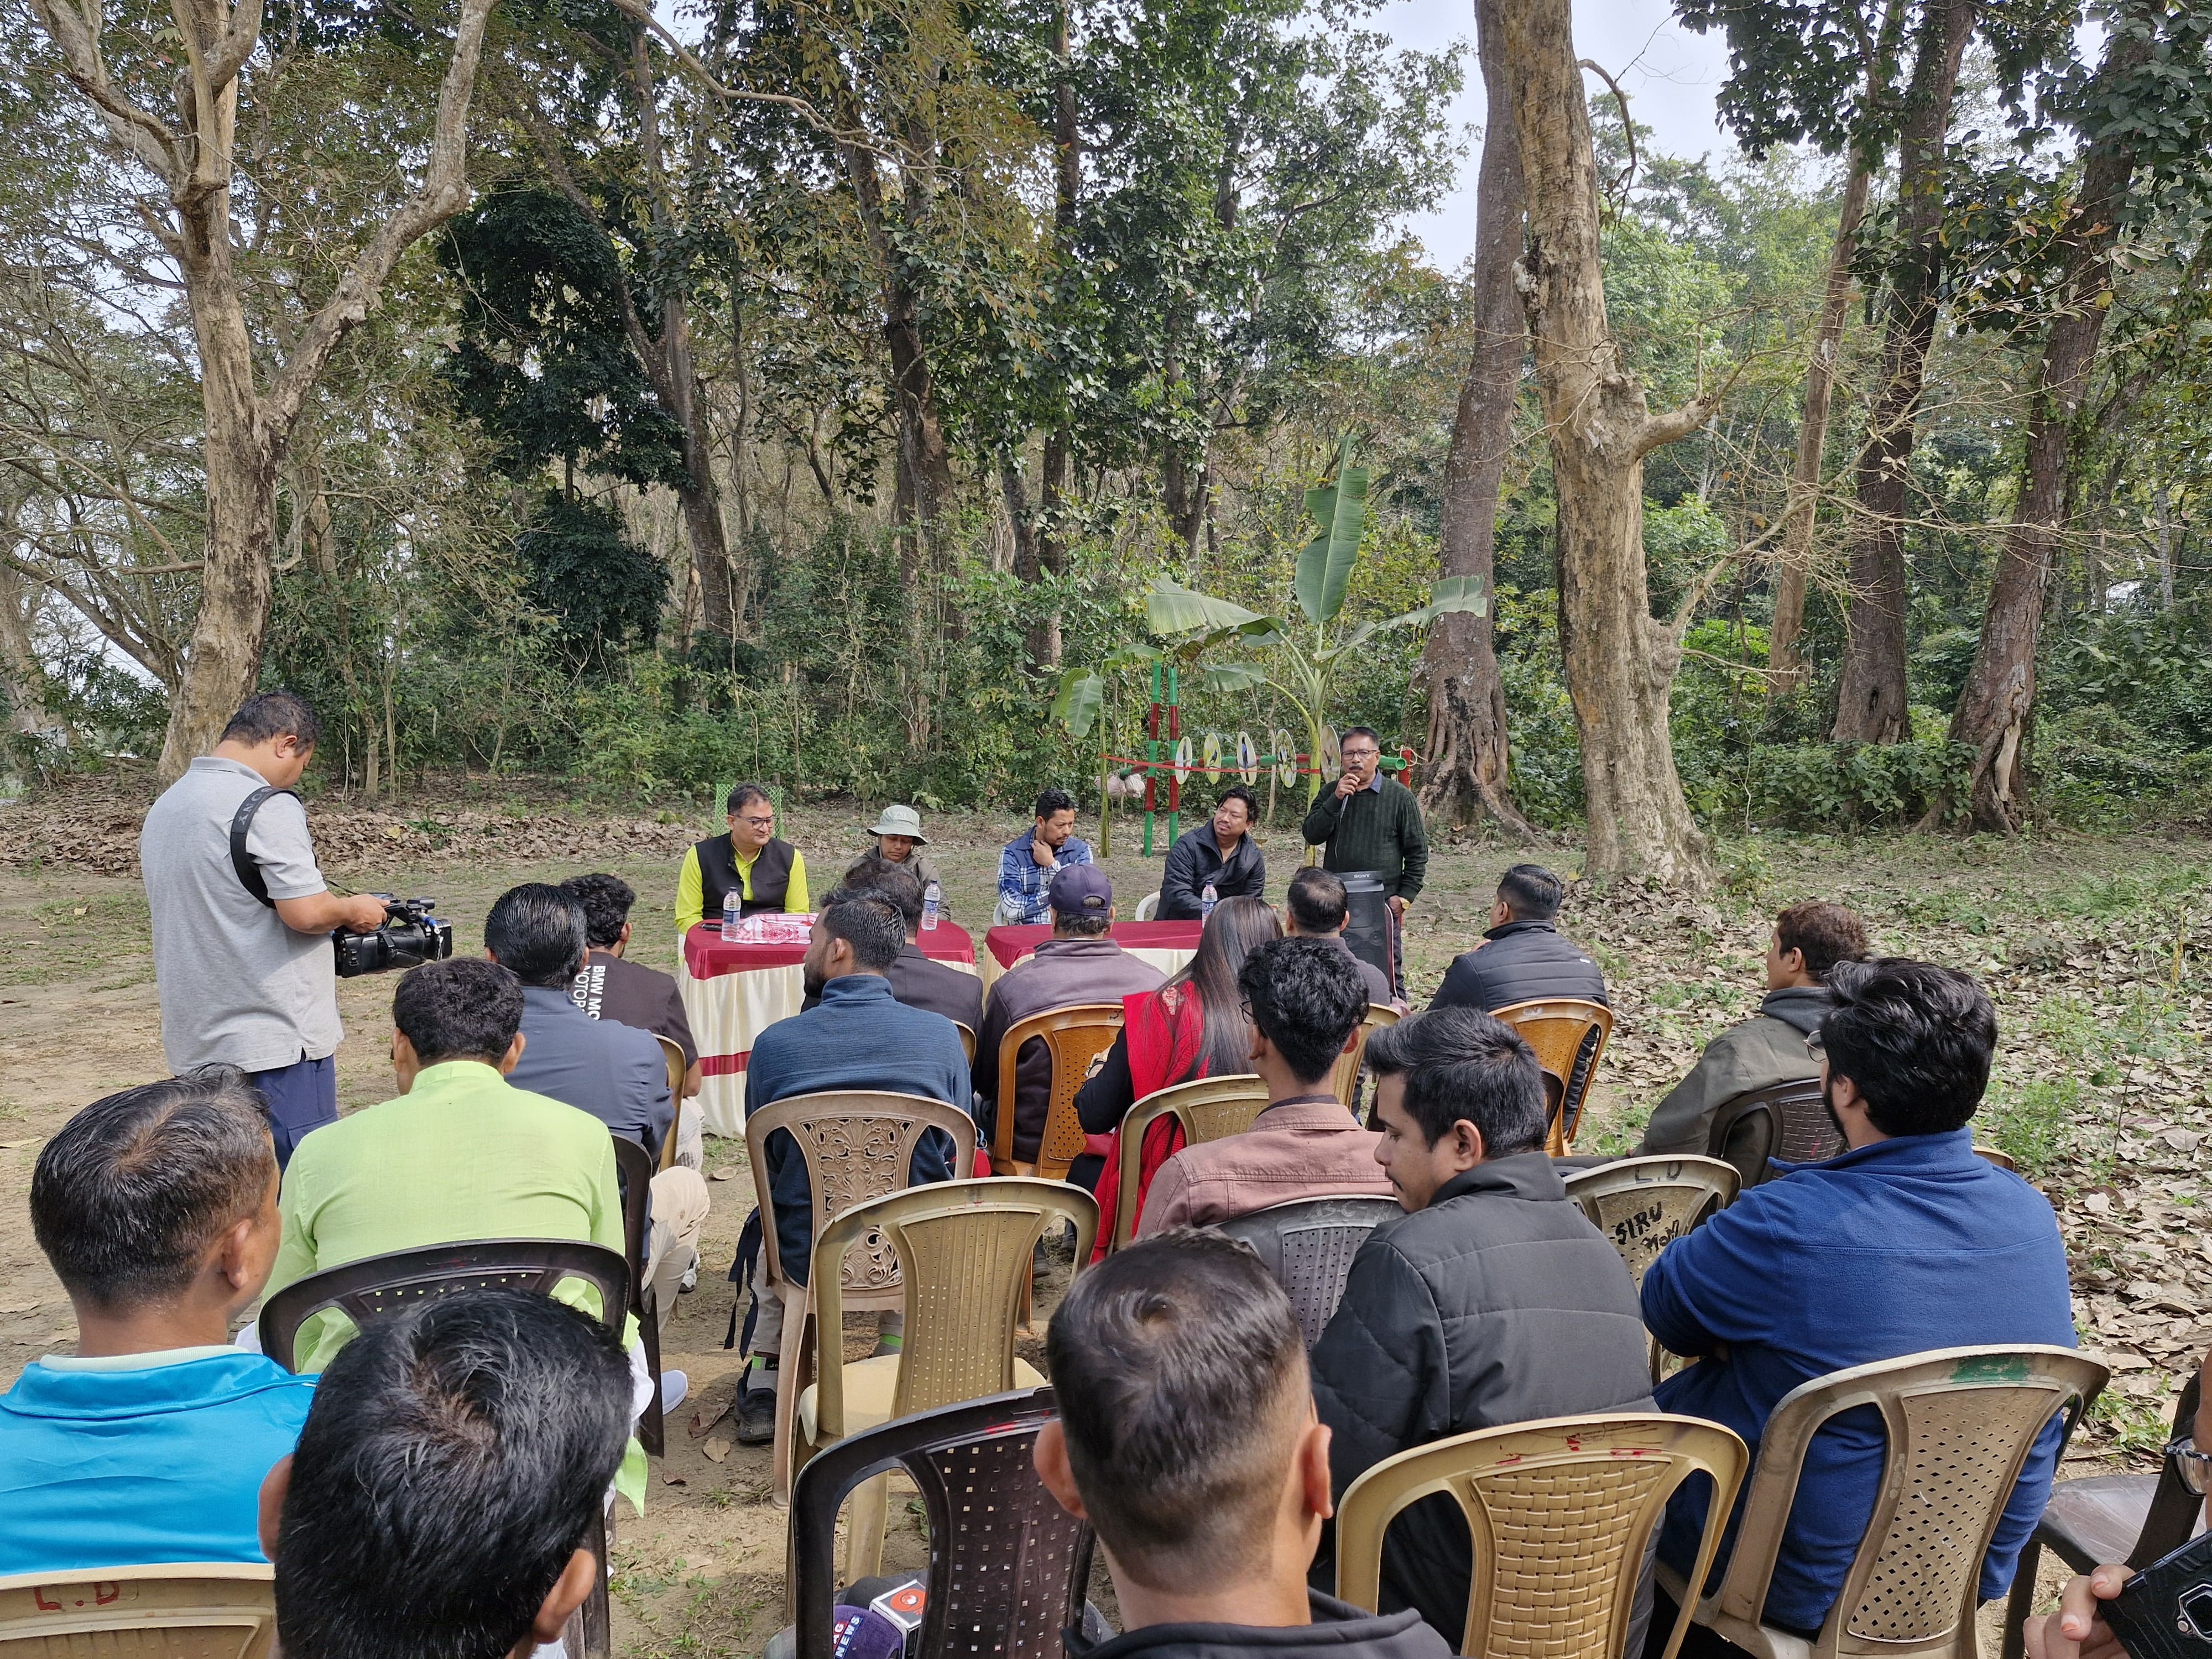
[{"label": "standing man in grey polo shirt operating a video camera", "polygon": [[292,692],[248,697],[215,754],[192,761],[139,830],[168,1068],[248,1073],[268,1099],[279,1166],[307,1130],[338,1119],[345,1033],[330,933],[385,922],[385,900],[341,898],[316,869],[292,787],[319,732]]}]

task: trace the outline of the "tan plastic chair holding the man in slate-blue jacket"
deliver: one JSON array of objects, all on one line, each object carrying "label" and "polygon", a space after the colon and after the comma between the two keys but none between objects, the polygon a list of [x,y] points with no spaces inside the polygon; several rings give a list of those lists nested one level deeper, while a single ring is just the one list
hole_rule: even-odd
[{"label": "tan plastic chair holding the man in slate-blue jacket", "polygon": [[[745,1159],[761,1203],[761,1294],[783,1298],[783,1347],[776,1352],[776,1442],[770,1458],[776,1504],[792,1500],[792,1413],[799,1389],[792,1378],[807,1352],[807,1321],[814,1318],[816,1285],[785,1276],[776,1245],[776,1210],[768,1190],[768,1137],[790,1135],[807,1161],[814,1194],[814,1239],[856,1203],[880,1199],[907,1186],[914,1146],[925,1130],[953,1137],[953,1179],[975,1172],[975,1121],[958,1106],[922,1095],[874,1091],[792,1095],[745,1119]],[[816,1250],[818,1254],[818,1250]],[[880,1237],[867,1237],[843,1254],[838,1298],[845,1307],[900,1307],[898,1259]]]}]

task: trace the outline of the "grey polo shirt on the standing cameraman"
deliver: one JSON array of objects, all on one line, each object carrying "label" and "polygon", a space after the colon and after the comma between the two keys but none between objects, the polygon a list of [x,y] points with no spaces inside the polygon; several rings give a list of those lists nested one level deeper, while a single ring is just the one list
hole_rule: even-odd
[{"label": "grey polo shirt on the standing cameraman", "polygon": [[[345,1035],[330,936],[294,933],[230,867],[230,818],[263,787],[268,779],[243,761],[201,754],[139,830],[161,1051],[175,1073],[217,1062],[274,1071],[323,1060]],[[307,810],[294,796],[261,803],[246,849],[270,898],[323,891]]]}]

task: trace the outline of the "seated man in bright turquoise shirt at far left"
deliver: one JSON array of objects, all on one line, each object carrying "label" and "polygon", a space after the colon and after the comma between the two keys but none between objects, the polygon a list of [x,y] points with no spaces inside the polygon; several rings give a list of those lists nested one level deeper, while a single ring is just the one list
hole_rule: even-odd
[{"label": "seated man in bright turquoise shirt at far left", "polygon": [[314,1380],[230,1347],[276,1261],[276,1146],[243,1073],[126,1088],[46,1141],[31,1230],[77,1352],[0,1396],[0,1575],[261,1562],[261,1478]]}]

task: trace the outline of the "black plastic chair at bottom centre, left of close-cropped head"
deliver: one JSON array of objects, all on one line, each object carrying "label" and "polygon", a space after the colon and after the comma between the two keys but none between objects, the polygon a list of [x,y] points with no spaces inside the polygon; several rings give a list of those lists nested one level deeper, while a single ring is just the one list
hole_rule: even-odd
[{"label": "black plastic chair at bottom centre, left of close-cropped head", "polygon": [[905,1469],[929,1515],[925,1655],[1060,1659],[1082,1624],[1091,1526],[1037,1480],[1051,1389],[896,1418],[827,1447],[792,1482],[790,1571],[799,1659],[832,1659],[836,1513],[869,1475]]}]

